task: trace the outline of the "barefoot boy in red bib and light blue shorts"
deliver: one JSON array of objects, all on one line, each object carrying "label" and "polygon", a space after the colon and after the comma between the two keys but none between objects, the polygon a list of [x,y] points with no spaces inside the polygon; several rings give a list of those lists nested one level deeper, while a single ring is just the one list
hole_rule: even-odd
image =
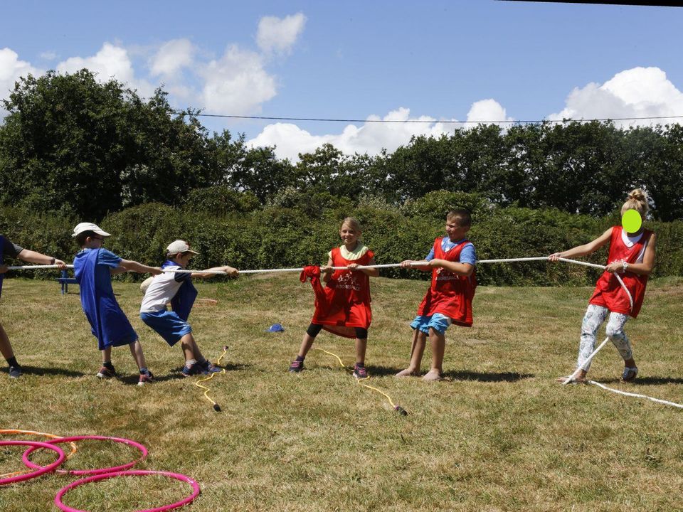
[{"label": "barefoot boy in red bib and light blue shorts", "polygon": [[[477,256],[474,245],[465,238],[471,224],[472,217],[467,210],[450,211],[446,215],[448,237],[434,240],[432,251],[425,258],[428,264],[418,267],[432,272],[432,282],[418,307],[418,316],[411,323],[411,363],[408,368],[398,372],[396,377],[418,375],[429,336],[432,367],[423,380],[441,380],[446,329],[450,324],[472,326],[472,299],[477,287]],[[401,262],[401,267],[411,267],[412,263],[413,260],[406,260]]]}]

